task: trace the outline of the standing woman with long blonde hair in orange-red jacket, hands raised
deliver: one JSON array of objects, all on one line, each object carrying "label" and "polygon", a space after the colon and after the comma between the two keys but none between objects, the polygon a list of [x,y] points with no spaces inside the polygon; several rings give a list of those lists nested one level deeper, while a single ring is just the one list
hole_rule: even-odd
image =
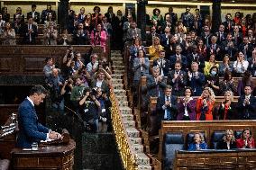
[{"label": "standing woman with long blonde hair in orange-red jacket, hands raised", "polygon": [[206,87],[203,94],[197,99],[197,121],[213,120],[213,109],[215,105],[215,94],[210,87]]}]

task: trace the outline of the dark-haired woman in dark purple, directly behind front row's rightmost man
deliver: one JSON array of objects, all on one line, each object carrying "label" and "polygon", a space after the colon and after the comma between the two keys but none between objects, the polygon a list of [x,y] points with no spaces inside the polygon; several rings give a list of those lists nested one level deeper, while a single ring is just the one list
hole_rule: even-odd
[{"label": "dark-haired woman in dark purple, directly behind front row's rightmost man", "polygon": [[251,72],[248,71],[248,70],[244,72],[244,75],[242,76],[242,80],[238,81],[237,94],[239,96],[244,94],[244,87],[246,85],[250,85],[251,89],[254,88],[254,84],[253,84],[253,81],[252,81],[252,78],[251,78]]}]

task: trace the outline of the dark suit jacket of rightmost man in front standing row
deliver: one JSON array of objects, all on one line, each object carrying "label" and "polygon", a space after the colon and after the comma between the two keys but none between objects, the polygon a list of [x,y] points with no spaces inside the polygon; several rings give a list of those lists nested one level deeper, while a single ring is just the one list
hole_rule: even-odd
[{"label": "dark suit jacket of rightmost man in front standing row", "polygon": [[256,120],[256,98],[251,94],[249,102],[250,104],[243,105],[245,95],[242,95],[238,99],[238,119],[240,120]]}]

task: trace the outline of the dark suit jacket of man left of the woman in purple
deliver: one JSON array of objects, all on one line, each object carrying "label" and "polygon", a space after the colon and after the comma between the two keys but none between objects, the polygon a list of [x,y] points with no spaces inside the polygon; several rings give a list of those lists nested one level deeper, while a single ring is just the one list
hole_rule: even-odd
[{"label": "dark suit jacket of man left of the woman in purple", "polygon": [[[171,120],[174,121],[174,120],[176,120],[177,112],[178,112],[177,96],[170,95],[170,103],[171,103],[171,107],[168,107],[167,109],[169,109],[169,112],[171,114]],[[162,96],[158,97],[157,107],[156,107],[157,113],[160,114],[162,120],[164,119],[164,113],[165,113],[165,110],[162,109],[162,106],[164,104],[165,104],[165,95],[162,95]]]}]

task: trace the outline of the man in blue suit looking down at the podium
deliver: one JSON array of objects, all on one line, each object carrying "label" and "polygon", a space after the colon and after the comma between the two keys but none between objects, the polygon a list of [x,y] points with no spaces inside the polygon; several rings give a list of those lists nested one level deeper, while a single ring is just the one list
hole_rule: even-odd
[{"label": "man in blue suit looking down at the podium", "polygon": [[29,96],[20,104],[18,109],[19,131],[16,146],[19,148],[32,148],[33,142],[46,139],[61,139],[57,132],[50,131],[38,122],[34,105],[43,102],[47,91],[41,85],[32,87]]}]

